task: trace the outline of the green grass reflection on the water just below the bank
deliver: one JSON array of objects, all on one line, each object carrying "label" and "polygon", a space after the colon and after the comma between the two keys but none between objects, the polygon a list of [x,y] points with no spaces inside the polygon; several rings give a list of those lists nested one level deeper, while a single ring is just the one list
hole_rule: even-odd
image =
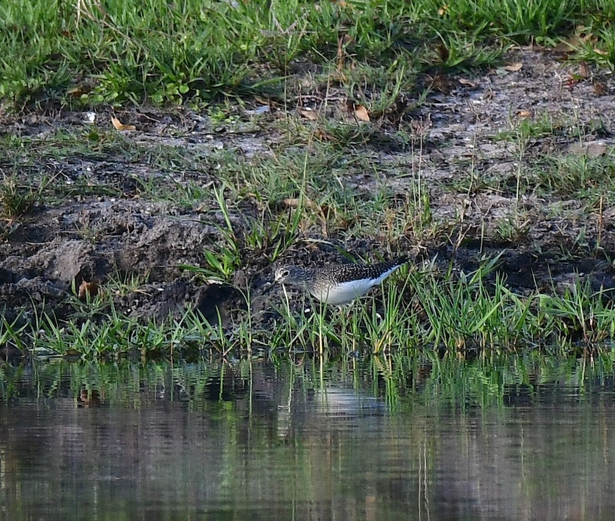
[{"label": "green grass reflection on the water just below the bank", "polygon": [[440,357],[432,351],[355,358],[325,352],[323,357],[273,356],[232,362],[71,362],[57,359],[0,365],[0,398],[71,398],[77,406],[105,404],[140,408],[167,400],[191,409],[215,402],[246,400],[290,407],[327,389],[352,389],[382,400],[389,412],[420,403],[466,410],[502,407],[511,400],[538,399],[544,389],[565,388],[579,397],[613,378],[613,352],[562,358],[557,353]]}]

